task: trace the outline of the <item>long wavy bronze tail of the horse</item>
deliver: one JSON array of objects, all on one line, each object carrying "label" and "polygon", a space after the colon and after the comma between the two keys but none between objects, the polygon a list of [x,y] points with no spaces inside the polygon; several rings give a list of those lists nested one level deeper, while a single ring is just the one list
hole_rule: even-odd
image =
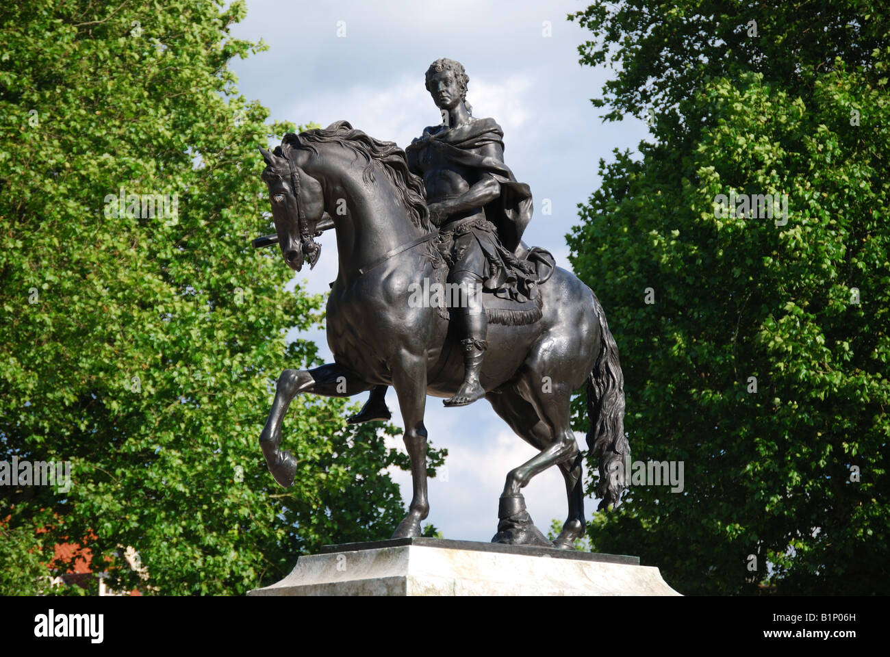
[{"label": "long wavy bronze tail of the horse", "polygon": [[587,377],[587,449],[600,457],[596,496],[603,499],[597,508],[602,510],[618,506],[621,491],[627,487],[624,459],[630,456],[630,444],[624,434],[624,375],[618,345],[595,295],[594,307],[600,321],[600,354]]}]

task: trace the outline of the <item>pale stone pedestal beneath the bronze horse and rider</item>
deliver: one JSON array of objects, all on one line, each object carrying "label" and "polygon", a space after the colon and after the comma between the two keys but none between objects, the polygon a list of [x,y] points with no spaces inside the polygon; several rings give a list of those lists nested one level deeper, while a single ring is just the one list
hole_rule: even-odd
[{"label": "pale stone pedestal beneath the bronze horse and rider", "polygon": [[348,543],[248,596],[678,596],[637,556],[465,540]]}]

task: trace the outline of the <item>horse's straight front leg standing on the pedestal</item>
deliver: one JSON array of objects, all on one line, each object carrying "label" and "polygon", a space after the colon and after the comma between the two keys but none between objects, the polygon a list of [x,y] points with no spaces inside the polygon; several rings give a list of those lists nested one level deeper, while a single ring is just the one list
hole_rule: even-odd
[{"label": "horse's straight front leg standing on the pedestal", "polygon": [[399,523],[393,539],[420,536],[420,522],[430,513],[426,499],[426,357],[404,354],[392,369],[392,385],[399,396],[401,418],[405,423],[405,448],[411,458],[414,494],[408,515]]}]

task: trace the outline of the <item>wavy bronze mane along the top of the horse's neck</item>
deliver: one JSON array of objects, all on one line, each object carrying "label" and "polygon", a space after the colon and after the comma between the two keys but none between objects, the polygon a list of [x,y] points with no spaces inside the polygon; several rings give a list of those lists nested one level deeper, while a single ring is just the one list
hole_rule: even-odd
[{"label": "wavy bronze mane along the top of the horse's neck", "polygon": [[[374,163],[381,166],[386,177],[399,194],[402,206],[408,210],[411,222],[428,232],[435,231],[430,223],[430,212],[426,207],[424,181],[408,170],[408,158],[395,142],[381,142],[353,128],[348,121],[335,121],[326,128],[307,130],[300,134],[287,133],[281,140],[282,149],[309,150],[318,154],[313,144],[334,142],[352,150],[368,161],[361,172],[366,184],[374,183]],[[276,149],[278,150],[278,149]]]}]

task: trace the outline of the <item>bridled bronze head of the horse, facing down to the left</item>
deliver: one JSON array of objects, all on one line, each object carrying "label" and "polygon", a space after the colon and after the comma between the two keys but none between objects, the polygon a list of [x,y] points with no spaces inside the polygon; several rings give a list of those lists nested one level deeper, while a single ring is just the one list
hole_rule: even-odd
[{"label": "bridled bronze head of the horse, facing down to the left", "polygon": [[[274,151],[260,149],[265,159],[263,181],[269,186],[272,219],[275,222],[277,241],[281,255],[291,269],[299,272],[303,260],[310,269],[318,262],[320,244],[312,237],[319,234],[320,223],[325,215],[325,199],[321,183],[307,174],[305,166],[308,154],[289,145]],[[255,246],[272,243],[272,238],[255,240]],[[261,241],[261,240],[266,241]],[[259,243],[258,243],[259,242]]]}]

